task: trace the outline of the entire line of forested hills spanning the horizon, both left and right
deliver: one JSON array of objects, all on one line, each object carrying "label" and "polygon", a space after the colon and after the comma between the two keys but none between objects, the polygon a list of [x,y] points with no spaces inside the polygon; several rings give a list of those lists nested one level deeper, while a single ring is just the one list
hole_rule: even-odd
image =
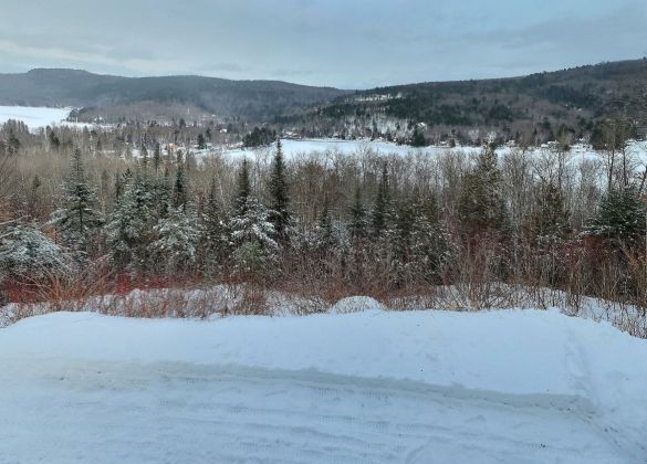
[{"label": "entire line of forested hills spanning the horizon, both left and right", "polygon": [[[342,91],[279,81],[121,77],[74,70],[0,74],[0,105],[76,106],[81,119],[196,120],[204,115],[278,123],[304,135],[549,140],[591,134],[596,122],[647,115],[647,59],[521,77]],[[420,123],[424,123],[422,125]],[[474,130],[478,129],[478,130]],[[471,135],[470,135],[471,133]],[[479,135],[474,135],[478,133]]]}]

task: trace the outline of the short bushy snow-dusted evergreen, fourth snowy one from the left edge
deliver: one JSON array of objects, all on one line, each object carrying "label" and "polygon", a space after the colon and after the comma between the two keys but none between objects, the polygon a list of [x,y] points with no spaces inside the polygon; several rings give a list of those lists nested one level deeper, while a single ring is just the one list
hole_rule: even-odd
[{"label": "short bushy snow-dusted evergreen, fourth snowy one from the left edge", "polygon": [[153,235],[148,253],[157,273],[187,272],[196,263],[199,236],[192,209],[171,209],[153,228]]}]

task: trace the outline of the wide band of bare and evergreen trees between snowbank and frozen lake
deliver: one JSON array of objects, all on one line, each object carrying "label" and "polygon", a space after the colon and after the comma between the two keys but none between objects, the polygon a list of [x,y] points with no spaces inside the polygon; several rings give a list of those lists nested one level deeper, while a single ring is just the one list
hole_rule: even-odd
[{"label": "wide band of bare and evergreen trees between snowbank and frozen lake", "polygon": [[467,285],[484,304],[519,284],[647,307],[645,176],[618,122],[588,160],[562,146],[286,160],[279,144],[198,162],[146,128],[55,130],[1,133],[4,299],[238,282],[328,299]]}]

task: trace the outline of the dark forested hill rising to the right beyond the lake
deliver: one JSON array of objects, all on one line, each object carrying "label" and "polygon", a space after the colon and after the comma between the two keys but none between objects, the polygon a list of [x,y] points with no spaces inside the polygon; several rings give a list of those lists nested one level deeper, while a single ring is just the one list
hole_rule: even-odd
[{"label": "dark forested hill rising to the right beyond the lake", "polygon": [[[384,120],[425,123],[428,135],[468,128],[518,133],[591,130],[596,120],[614,115],[647,114],[647,59],[602,63],[521,77],[429,82],[378,87],[341,96],[328,105],[293,115],[291,122],[317,119],[343,130],[348,122],[365,128]],[[384,130],[384,129],[382,129]],[[536,133],[535,133],[536,134]]]}]

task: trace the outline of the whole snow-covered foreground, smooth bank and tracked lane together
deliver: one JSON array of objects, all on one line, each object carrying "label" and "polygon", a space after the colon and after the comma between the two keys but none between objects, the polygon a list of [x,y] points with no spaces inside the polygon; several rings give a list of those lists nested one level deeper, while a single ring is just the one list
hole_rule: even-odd
[{"label": "whole snow-covered foreground, smooth bank and tracked lane together", "polygon": [[645,386],[556,310],[56,313],[0,329],[0,462],[645,463]]}]

